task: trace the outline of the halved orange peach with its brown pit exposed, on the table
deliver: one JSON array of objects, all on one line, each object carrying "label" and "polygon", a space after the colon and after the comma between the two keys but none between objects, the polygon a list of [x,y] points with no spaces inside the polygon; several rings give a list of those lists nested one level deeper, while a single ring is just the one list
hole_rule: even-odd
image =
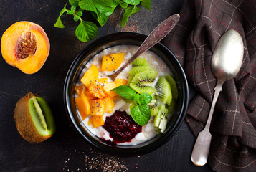
[{"label": "halved orange peach with its brown pit exposed, on the table", "polygon": [[33,22],[16,22],[1,37],[5,61],[26,74],[41,69],[49,55],[49,39],[44,29]]}]

